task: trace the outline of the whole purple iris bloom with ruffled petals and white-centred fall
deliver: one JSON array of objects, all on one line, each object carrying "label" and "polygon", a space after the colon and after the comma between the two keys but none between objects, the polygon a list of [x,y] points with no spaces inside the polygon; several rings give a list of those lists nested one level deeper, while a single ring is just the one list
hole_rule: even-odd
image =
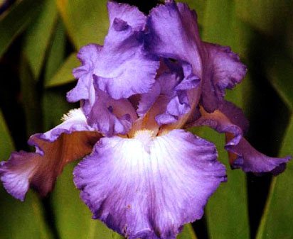
[{"label": "whole purple iris bloom with ruffled petals and white-centred fall", "polygon": [[68,92],[80,101],[63,123],[32,135],[36,152],[13,152],[1,162],[6,190],[23,200],[29,187],[53,189],[68,162],[81,199],[108,227],[127,238],[176,238],[203,216],[208,198],[225,182],[213,143],[186,131],[209,126],[225,133],[230,165],[278,174],[290,157],[267,157],[243,138],[243,112],[225,101],[246,67],[230,48],[204,43],[196,13],[166,1],[145,16],[108,3],[104,45],[86,45]]}]

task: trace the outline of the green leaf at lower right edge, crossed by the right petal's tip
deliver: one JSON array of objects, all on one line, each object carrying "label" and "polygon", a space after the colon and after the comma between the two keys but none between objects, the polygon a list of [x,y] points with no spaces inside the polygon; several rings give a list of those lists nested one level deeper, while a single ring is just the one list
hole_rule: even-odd
[{"label": "green leaf at lower right edge, crossed by the right petal's tip", "polygon": [[[280,157],[293,155],[293,115],[290,118]],[[270,195],[267,199],[265,212],[262,215],[257,239],[282,238],[290,239],[293,235],[293,163],[287,164],[287,169],[278,177],[272,179]]]}]

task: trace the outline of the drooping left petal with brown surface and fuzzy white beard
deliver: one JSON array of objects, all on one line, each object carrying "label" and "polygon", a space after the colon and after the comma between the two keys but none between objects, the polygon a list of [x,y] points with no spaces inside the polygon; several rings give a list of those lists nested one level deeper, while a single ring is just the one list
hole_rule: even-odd
[{"label": "drooping left petal with brown surface and fuzzy white beard", "polygon": [[6,162],[1,162],[0,179],[5,189],[23,201],[29,187],[45,196],[68,162],[92,152],[101,137],[87,126],[82,111],[71,111],[65,121],[44,134],[32,135],[28,144],[36,152],[13,152]]}]

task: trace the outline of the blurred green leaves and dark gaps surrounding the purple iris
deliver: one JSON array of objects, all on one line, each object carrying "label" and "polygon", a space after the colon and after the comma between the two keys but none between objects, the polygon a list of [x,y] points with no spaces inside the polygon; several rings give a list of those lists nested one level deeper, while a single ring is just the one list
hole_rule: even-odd
[{"label": "blurred green leaves and dark gaps surrounding the purple iris", "polygon": [[[0,159],[30,150],[29,135],[60,123],[76,105],[65,101],[75,85],[82,45],[103,43],[105,0],[0,1]],[[122,1],[121,1],[122,2]],[[159,1],[123,1],[147,13]],[[248,66],[247,77],[227,99],[250,119],[247,138],[272,156],[293,155],[293,1],[186,0],[198,13],[203,40],[230,45]],[[218,146],[228,166],[223,135],[194,129]],[[30,191],[21,203],[0,188],[0,239],[121,238],[90,217],[73,185],[74,165],[65,167],[45,199]],[[293,164],[279,177],[257,177],[228,168],[206,206],[180,239],[293,238]]]}]

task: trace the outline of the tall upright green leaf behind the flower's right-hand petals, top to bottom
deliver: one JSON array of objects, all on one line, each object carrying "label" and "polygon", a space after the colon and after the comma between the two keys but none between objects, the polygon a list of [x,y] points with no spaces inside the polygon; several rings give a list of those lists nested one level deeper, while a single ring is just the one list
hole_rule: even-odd
[{"label": "tall upright green leaf behind the flower's right-hand petals, top to bottom", "polygon": [[[232,0],[209,0],[203,21],[203,40],[229,45],[233,51],[244,48],[241,38],[242,23],[235,14]],[[245,85],[240,84],[227,92],[226,99],[240,107],[244,106]],[[226,165],[228,182],[220,185],[211,196],[206,207],[208,233],[212,239],[234,239],[250,237],[248,221],[247,191],[245,174],[240,170],[232,171],[228,164],[228,153],[224,150],[225,137],[205,128],[201,137],[211,140],[218,149],[219,160]]]}]

